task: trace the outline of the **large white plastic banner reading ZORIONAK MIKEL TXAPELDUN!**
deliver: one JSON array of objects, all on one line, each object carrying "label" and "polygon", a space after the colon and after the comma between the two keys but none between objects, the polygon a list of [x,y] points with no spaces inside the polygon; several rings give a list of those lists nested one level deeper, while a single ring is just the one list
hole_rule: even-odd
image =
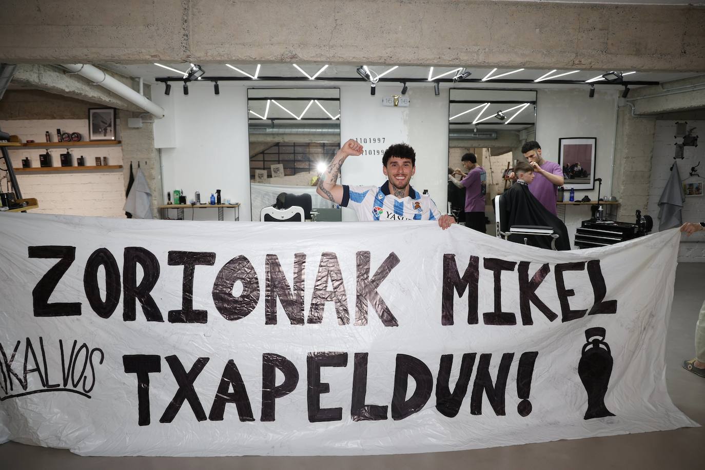
[{"label": "large white plastic banner reading ZORIONAK MIKEL TXAPELDUN!", "polygon": [[551,252],[436,223],[0,214],[0,442],[436,452],[697,426],[680,235]]}]

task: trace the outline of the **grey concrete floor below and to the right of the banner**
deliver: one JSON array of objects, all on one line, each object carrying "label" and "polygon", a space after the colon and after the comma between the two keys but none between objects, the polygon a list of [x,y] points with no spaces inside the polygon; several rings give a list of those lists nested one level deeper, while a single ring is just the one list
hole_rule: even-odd
[{"label": "grey concrete floor below and to the right of the banner", "polygon": [[[694,331],[705,299],[705,264],[680,264],[666,343],[666,381],[675,405],[705,425],[705,379],[682,369],[694,355]],[[360,457],[80,457],[68,450],[0,445],[11,469],[704,469],[705,427],[559,440],[491,449]]]}]

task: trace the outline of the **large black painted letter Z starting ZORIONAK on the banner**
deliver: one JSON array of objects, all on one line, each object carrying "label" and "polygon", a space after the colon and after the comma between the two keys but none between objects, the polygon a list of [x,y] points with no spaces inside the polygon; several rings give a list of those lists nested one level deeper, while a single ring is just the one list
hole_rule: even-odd
[{"label": "large black painted letter Z starting ZORIONAK on the banner", "polygon": [[81,314],[80,302],[49,303],[49,297],[59,285],[59,280],[76,259],[76,247],[45,245],[27,247],[30,258],[59,259],[32,289],[32,307],[35,316],[73,316]]}]

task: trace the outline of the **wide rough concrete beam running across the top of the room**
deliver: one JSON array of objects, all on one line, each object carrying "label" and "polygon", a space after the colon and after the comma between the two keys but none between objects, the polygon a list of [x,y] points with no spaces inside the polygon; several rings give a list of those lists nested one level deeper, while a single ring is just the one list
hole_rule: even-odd
[{"label": "wide rough concrete beam running across the top of the room", "polygon": [[698,6],[488,0],[114,0],[100,8],[85,8],[80,0],[42,8],[6,3],[0,28],[0,61],[6,62],[705,70],[705,8]]}]

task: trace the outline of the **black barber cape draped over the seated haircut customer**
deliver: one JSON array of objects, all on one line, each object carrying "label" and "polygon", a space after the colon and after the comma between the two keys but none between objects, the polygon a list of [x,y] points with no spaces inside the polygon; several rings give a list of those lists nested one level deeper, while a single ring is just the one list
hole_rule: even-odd
[{"label": "black barber cape draped over the seated haircut customer", "polygon": [[[500,197],[501,230],[506,232],[513,225],[541,225],[553,228],[553,233],[560,235],[556,240],[556,249],[570,249],[568,229],[560,218],[548,212],[539,199],[529,191],[529,185],[517,182]],[[524,243],[532,247],[551,249],[551,237],[546,235],[511,235],[508,240]]]}]

